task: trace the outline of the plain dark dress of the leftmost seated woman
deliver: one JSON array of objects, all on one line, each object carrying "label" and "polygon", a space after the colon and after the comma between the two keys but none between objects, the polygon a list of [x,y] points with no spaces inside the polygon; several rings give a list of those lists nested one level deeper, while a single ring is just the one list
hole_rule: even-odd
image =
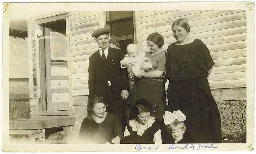
[{"label": "plain dark dress of the leftmost seated woman", "polygon": [[89,115],[81,124],[78,140],[84,143],[102,144],[117,135],[120,140],[124,137],[116,115],[107,113],[104,121],[99,124],[94,121],[92,115]]}]

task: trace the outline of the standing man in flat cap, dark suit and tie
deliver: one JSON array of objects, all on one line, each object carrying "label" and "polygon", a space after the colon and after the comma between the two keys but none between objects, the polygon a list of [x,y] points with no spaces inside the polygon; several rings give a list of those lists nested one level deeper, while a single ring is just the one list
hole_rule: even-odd
[{"label": "standing man in flat cap, dark suit and tie", "polygon": [[100,28],[92,33],[99,49],[89,58],[89,96],[101,95],[108,102],[108,112],[117,115],[125,127],[125,103],[129,96],[127,71],[120,67],[124,54],[108,46],[110,29]]}]

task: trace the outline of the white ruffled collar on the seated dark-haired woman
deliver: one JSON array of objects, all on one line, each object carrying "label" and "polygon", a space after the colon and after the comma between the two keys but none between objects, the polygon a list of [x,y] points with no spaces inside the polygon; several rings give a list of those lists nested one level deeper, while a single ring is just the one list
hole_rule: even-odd
[{"label": "white ruffled collar on the seated dark-haired woman", "polygon": [[129,125],[132,127],[132,131],[137,131],[137,135],[141,136],[145,132],[145,130],[147,130],[149,127],[153,125],[154,122],[155,118],[150,116],[148,118],[147,124],[145,125],[142,125],[136,119],[130,120]]}]

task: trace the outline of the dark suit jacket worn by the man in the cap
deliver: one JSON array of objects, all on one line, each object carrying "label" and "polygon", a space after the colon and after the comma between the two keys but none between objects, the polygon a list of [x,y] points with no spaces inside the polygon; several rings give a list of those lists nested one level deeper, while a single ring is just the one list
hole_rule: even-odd
[{"label": "dark suit jacket worn by the man in the cap", "polygon": [[[108,47],[107,67],[111,81],[111,88],[116,100],[121,99],[121,91],[130,89],[126,69],[120,67],[123,60],[122,50]],[[104,69],[102,57],[98,50],[89,58],[89,96],[98,94],[107,99],[108,75]]]}]

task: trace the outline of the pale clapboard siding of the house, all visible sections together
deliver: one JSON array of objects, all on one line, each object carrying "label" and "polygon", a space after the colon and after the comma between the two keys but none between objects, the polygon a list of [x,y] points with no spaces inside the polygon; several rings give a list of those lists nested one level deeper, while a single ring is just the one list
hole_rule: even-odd
[{"label": "pale clapboard siding of the house, all visible sections together", "polygon": [[[89,57],[97,51],[91,34],[102,27],[103,13],[99,11],[69,12],[72,71],[72,99],[74,105],[87,104]],[[246,99],[246,11],[140,11],[140,45],[148,50],[147,37],[158,32],[164,37],[163,48],[175,42],[172,23],[179,18],[188,21],[190,37],[202,40],[216,63],[208,78],[215,100]],[[35,23],[28,24],[30,87],[36,77]],[[140,30],[139,30],[140,32]],[[167,89],[168,81],[165,84]],[[36,87],[30,88],[30,97],[36,96]]]}]

